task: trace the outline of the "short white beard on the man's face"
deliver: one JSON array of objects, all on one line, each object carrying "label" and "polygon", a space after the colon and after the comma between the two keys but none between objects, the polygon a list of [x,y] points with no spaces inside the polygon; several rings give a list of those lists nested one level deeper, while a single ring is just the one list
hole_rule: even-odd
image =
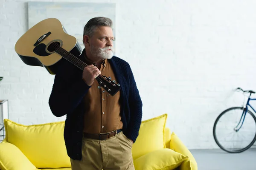
[{"label": "short white beard on the man's face", "polygon": [[113,48],[110,46],[105,48],[97,48],[96,46],[91,46],[91,53],[100,59],[111,59],[113,57]]}]

